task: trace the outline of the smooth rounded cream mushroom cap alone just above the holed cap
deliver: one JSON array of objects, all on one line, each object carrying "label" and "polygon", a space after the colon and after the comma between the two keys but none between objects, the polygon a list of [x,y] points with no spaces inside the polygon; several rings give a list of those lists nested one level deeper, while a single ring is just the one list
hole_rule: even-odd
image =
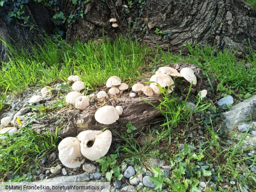
[{"label": "smooth rounded cream mushroom cap alone just above the holed cap", "polygon": [[97,122],[102,123],[104,125],[109,125],[116,122],[119,119],[118,112],[116,108],[111,105],[103,106],[99,108],[94,115]]}]

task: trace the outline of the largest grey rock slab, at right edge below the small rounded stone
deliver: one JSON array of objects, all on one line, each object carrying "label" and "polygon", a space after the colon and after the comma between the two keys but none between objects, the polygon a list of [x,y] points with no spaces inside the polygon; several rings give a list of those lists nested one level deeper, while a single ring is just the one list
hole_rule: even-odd
[{"label": "largest grey rock slab, at right edge below the small rounded stone", "polygon": [[224,115],[224,122],[229,130],[234,129],[239,123],[249,122],[250,115],[252,119],[256,119],[256,95],[249,99],[234,105],[228,112],[222,113]]}]

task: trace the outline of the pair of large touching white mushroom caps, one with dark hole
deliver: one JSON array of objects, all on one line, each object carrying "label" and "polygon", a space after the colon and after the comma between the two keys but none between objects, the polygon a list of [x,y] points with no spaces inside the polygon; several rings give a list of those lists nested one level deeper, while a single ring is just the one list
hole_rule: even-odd
[{"label": "pair of large touching white mushroom caps, one with dark hole", "polygon": [[96,161],[107,154],[111,142],[112,133],[109,130],[86,130],[79,133],[77,138],[67,137],[60,142],[59,159],[66,167],[77,168],[85,158]]}]

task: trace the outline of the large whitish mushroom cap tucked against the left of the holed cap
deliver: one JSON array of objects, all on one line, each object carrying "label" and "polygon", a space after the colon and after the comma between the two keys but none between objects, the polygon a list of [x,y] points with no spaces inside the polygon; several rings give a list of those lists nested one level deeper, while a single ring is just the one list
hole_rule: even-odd
[{"label": "large whitish mushroom cap tucked against the left of the holed cap", "polygon": [[84,163],[84,158],[80,151],[80,141],[75,137],[63,139],[59,146],[59,159],[68,168],[78,168]]}]

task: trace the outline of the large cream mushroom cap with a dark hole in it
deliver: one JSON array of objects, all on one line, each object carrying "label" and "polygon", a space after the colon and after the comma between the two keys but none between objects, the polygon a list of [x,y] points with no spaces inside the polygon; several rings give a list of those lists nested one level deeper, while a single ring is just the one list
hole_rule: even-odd
[{"label": "large cream mushroom cap with a dark hole in it", "polygon": [[105,130],[97,135],[88,133],[81,139],[81,154],[91,161],[96,161],[108,153],[112,142],[112,133]]}]

